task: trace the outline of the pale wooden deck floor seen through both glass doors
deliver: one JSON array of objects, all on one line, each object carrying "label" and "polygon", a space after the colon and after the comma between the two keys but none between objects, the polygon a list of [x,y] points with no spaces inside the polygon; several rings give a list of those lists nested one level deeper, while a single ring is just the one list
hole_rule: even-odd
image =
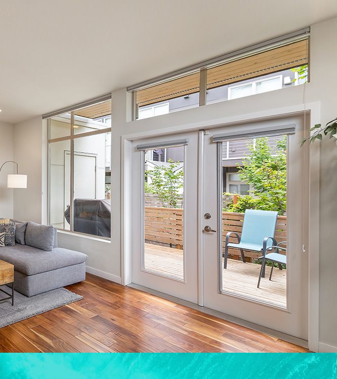
[{"label": "pale wooden deck floor seen through both glass doors", "polygon": [[[183,280],[183,250],[145,244],[144,266],[146,270]],[[274,268],[270,281],[271,267],[266,267],[266,277],[257,288],[260,268],[255,263],[228,259],[227,269],[222,270],[223,291],[285,308],[286,270]]]}]

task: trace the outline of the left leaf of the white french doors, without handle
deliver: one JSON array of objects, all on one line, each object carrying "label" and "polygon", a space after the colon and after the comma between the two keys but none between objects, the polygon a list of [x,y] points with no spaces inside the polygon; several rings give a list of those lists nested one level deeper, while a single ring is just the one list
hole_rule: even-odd
[{"label": "left leaf of the white french doors, without handle", "polygon": [[132,282],[197,303],[198,133],[135,140]]}]

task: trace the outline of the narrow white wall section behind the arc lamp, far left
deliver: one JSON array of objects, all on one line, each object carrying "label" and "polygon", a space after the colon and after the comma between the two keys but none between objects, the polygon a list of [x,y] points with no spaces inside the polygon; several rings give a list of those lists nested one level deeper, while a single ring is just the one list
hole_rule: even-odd
[{"label": "narrow white wall section behind the arc lamp, far left", "polygon": [[[0,122],[0,166],[6,161],[14,160],[14,127]],[[21,167],[19,166],[19,170]],[[0,173],[0,217],[13,217],[13,189],[7,188],[7,175],[15,174],[14,163],[7,163]],[[20,172],[19,172],[20,173]],[[21,172],[22,173],[22,172]],[[22,191],[17,189],[15,191]]]}]

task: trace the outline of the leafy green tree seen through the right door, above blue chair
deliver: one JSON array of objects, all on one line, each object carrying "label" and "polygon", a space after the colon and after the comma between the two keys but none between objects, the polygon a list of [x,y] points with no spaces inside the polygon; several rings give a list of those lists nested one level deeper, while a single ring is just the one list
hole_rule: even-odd
[{"label": "leafy green tree seen through the right door, above blue chair", "polygon": [[239,167],[241,180],[252,187],[249,199],[240,202],[261,210],[286,211],[286,136],[277,141],[276,152],[268,138],[257,138],[255,146],[248,144],[249,153]]}]

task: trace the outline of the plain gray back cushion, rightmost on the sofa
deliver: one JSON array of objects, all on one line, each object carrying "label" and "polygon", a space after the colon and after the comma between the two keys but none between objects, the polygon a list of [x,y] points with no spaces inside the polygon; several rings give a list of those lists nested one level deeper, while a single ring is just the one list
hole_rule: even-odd
[{"label": "plain gray back cushion, rightmost on the sofa", "polygon": [[26,245],[45,251],[52,251],[54,233],[54,227],[51,225],[40,225],[29,221],[26,228]]}]

